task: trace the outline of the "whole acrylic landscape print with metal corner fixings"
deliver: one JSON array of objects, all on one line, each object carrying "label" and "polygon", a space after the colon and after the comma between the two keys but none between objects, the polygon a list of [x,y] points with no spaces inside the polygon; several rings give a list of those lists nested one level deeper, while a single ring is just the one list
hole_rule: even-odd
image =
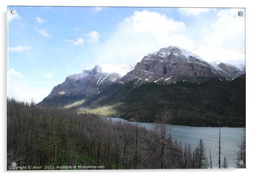
[{"label": "whole acrylic landscape print with metal corner fixings", "polygon": [[245,8],[7,11],[7,170],[245,168]]}]

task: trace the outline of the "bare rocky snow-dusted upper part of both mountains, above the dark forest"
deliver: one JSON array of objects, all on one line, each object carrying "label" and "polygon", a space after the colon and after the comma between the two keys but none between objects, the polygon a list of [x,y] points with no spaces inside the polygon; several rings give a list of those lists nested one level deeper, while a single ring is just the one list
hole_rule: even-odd
[{"label": "bare rocky snow-dusted upper part of both mountains, above the dark forest", "polygon": [[[117,82],[123,85],[132,80],[135,87],[145,82],[170,84],[186,81],[200,84],[208,78],[216,78],[219,81],[233,80],[242,74],[245,74],[245,70],[231,64],[208,63],[188,50],[170,46],[144,56],[136,66],[134,64],[102,64],[94,66],[91,70],[69,75],[39,104],[63,106],[74,104],[81,99],[85,102],[87,97],[95,95],[99,95],[99,99],[104,99],[106,95],[101,96],[101,92],[109,88],[108,85]],[[97,101],[100,101],[99,99]]]}]

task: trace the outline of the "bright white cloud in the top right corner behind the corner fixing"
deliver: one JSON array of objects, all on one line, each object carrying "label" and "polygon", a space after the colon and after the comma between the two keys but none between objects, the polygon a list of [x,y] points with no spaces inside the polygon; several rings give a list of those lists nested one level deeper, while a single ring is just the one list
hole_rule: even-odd
[{"label": "bright white cloud in the top right corner behind the corner fixing", "polygon": [[193,52],[207,61],[245,60],[245,18],[238,11],[243,9],[222,9],[210,25],[198,26],[208,33],[193,41]]}]

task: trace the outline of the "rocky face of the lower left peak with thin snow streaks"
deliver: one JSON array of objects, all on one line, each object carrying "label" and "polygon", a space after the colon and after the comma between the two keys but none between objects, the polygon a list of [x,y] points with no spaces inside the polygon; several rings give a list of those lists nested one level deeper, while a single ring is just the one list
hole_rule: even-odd
[{"label": "rocky face of the lower left peak with thin snow streaks", "polygon": [[72,98],[74,96],[91,96],[100,93],[101,89],[114,82],[119,82],[120,75],[112,72],[102,72],[100,65],[92,70],[85,70],[79,74],[66,77],[66,80],[53,88],[51,93],[39,104],[58,98]]}]

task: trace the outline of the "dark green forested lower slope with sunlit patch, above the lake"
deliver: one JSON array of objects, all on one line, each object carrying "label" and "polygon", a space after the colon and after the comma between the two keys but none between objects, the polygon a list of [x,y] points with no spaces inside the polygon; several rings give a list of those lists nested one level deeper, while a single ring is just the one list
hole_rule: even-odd
[{"label": "dark green forested lower slope with sunlit patch, above the lake", "polygon": [[154,122],[156,113],[164,107],[173,113],[171,123],[174,125],[219,126],[220,121],[221,126],[244,127],[245,75],[232,81],[209,79],[200,84],[145,83],[134,87],[134,82],[117,83],[72,108],[102,116]]}]

